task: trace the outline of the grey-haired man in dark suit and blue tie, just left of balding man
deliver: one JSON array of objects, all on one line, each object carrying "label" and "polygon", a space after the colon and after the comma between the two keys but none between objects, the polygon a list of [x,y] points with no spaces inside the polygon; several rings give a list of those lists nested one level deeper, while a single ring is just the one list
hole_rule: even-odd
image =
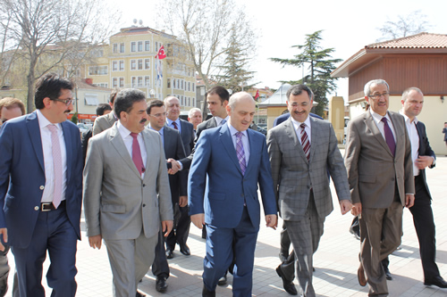
[{"label": "grey-haired man in dark suit and blue tie, just left of balding man", "polygon": [[[166,108],[166,127],[174,128],[180,132],[181,141],[183,143],[183,148],[185,150],[186,155],[190,155],[192,148],[194,147],[194,127],[193,125],[186,121],[180,119],[180,101],[177,97],[168,96],[164,98],[164,106]],[[175,159],[179,160],[179,159]],[[173,163],[173,169],[175,168],[173,158],[168,159]],[[173,174],[176,171],[170,169],[169,173]],[[181,166],[182,169],[182,166]],[[185,171],[186,175],[188,175],[188,168],[185,168],[182,171]],[[180,252],[185,256],[190,255],[190,248],[186,244],[188,240],[188,235],[190,235],[190,216],[188,215],[188,207],[186,207],[186,203],[184,206],[174,205],[174,224],[173,224],[173,232],[171,232],[166,239],[166,257],[167,259],[173,258],[173,250],[175,249],[175,243],[180,245]]]}]

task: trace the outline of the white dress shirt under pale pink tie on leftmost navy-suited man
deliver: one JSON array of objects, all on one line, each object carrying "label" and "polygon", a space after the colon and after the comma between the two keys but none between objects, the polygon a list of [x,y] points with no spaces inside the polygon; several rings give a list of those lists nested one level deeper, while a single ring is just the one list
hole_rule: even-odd
[{"label": "white dress shirt under pale pink tie on leftmost navy-suited man", "polygon": [[67,189],[67,150],[65,148],[65,139],[63,138],[63,129],[61,124],[52,124],[37,110],[38,127],[40,128],[40,139],[42,141],[42,151],[44,153],[44,168],[45,168],[45,188],[40,202],[53,202],[53,195],[55,194],[55,165],[53,163],[53,144],[51,142],[51,131],[48,125],[55,125],[57,128],[57,137],[59,138],[59,145],[61,146],[62,158],[62,194],[61,201],[65,200],[65,190]]}]

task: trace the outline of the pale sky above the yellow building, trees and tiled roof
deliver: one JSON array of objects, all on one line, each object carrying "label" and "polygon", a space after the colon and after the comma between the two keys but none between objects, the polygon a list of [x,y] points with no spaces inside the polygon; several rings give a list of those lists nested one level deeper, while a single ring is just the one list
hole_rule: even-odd
[{"label": "pale sky above the yellow building, trees and tiled roof", "polygon": [[[115,8],[122,11],[118,28],[129,27],[133,19],[143,25],[156,26],[156,4],[158,0],[112,0]],[[430,33],[447,34],[447,1],[445,0],[375,0],[358,2],[354,0],[235,0],[245,5],[247,15],[260,33],[257,41],[257,58],[250,70],[256,71],[254,81],[257,87],[278,88],[280,80],[298,80],[302,70],[297,67],[283,67],[270,62],[269,58],[292,58],[299,54],[292,45],[302,45],[305,35],[323,29],[323,48],[334,48],[333,58],[343,61],[360,49],[375,43],[381,37],[379,28],[385,21],[395,21],[399,15],[420,10],[426,15],[431,26]],[[339,66],[337,64],[336,66]],[[337,90],[332,95],[348,98],[348,80],[339,79]],[[336,94],[335,94],[336,93]]]}]

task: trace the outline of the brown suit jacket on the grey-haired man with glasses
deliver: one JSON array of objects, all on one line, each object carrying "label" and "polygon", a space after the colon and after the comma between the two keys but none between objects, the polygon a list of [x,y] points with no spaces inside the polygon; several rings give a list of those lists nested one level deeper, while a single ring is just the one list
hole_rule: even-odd
[{"label": "brown suit jacket on the grey-haired man with glasses", "polygon": [[366,208],[388,208],[397,185],[402,205],[405,194],[414,194],[411,144],[404,118],[388,111],[396,136],[392,156],[370,111],[351,120],[348,125],[344,162],[348,170],[352,202]]}]

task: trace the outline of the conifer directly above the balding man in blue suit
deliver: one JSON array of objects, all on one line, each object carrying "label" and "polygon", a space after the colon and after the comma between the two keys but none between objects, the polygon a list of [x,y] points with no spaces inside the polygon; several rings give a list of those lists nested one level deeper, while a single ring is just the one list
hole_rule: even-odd
[{"label": "conifer directly above the balding man in blue suit", "polygon": [[249,84],[249,81],[254,78],[253,73],[255,72],[247,70],[250,62],[248,52],[253,45],[240,40],[239,33],[232,28],[230,43],[225,49],[225,60],[223,65],[218,66],[223,73],[216,75],[217,82],[227,89],[232,89],[233,93],[243,89],[247,90],[255,85],[254,83]]}]

